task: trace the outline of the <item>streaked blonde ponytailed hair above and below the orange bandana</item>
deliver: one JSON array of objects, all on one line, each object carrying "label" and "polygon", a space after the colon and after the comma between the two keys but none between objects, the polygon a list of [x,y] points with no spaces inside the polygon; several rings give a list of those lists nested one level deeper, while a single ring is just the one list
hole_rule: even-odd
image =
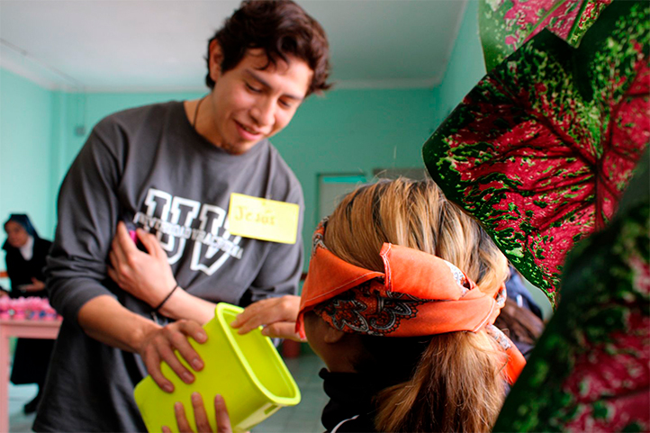
[{"label": "streaked blonde ponytailed hair above and below the orange bandana", "polygon": [[[508,276],[508,262],[492,240],[474,220],[447,202],[430,180],[401,178],[361,187],[343,199],[325,230],[324,243],[332,253],[375,271],[384,271],[379,256],[384,242],[444,258],[485,292],[494,292]],[[424,342],[414,338],[412,344],[395,341],[404,338],[363,338],[368,356],[358,363],[364,370],[359,373],[368,373],[379,364],[395,365],[394,360],[387,363],[387,358],[400,356],[398,365],[407,370],[394,372],[395,382],[400,383],[376,396],[378,431],[492,428],[505,396],[500,373],[505,357],[485,331],[440,334]],[[421,347],[411,350],[415,353],[411,361],[403,359],[408,350],[390,348],[404,343]]]}]

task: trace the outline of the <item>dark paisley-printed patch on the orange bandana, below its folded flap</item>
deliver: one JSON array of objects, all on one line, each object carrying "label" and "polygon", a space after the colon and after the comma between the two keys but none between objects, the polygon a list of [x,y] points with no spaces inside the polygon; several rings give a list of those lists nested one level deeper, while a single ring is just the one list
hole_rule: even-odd
[{"label": "dark paisley-printed patch on the orange bandana, below its folded flap", "polygon": [[426,302],[404,293],[381,293],[366,282],[354,291],[339,294],[323,302],[314,311],[335,329],[346,332],[385,336],[400,327],[402,320],[418,314],[418,305]]}]

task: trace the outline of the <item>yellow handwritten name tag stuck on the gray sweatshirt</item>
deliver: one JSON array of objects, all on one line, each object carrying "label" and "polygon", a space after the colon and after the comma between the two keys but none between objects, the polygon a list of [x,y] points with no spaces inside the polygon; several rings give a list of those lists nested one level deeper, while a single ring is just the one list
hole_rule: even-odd
[{"label": "yellow handwritten name tag stuck on the gray sweatshirt", "polygon": [[244,194],[230,194],[228,221],[231,234],[244,238],[294,244],[300,206]]}]

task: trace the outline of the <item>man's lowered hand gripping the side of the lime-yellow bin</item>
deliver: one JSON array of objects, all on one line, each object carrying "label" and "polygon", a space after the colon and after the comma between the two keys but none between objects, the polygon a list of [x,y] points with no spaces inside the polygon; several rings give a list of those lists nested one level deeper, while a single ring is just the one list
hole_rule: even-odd
[{"label": "man's lowered hand gripping the side of the lime-yellow bin", "polygon": [[194,347],[187,340],[190,337],[201,344],[208,339],[201,325],[194,320],[178,320],[165,327],[153,329],[142,339],[138,353],[147,366],[151,378],[158,383],[163,391],[174,391],[174,385],[160,371],[160,363],[163,361],[174,370],[183,382],[194,382],[194,374],[181,364],[174,353],[175,349],[180,356],[185,358],[187,364],[192,365],[195,371],[203,369],[201,356],[196,353]]}]

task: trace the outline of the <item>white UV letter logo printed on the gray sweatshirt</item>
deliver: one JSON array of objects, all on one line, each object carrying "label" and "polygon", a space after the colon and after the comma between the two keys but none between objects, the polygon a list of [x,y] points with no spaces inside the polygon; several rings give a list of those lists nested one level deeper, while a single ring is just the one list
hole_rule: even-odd
[{"label": "white UV letter logo printed on the gray sweatshirt", "polygon": [[241,237],[230,235],[228,212],[219,206],[149,188],[143,207],[133,222],[156,233],[170,265],[183,256],[190,240],[194,242],[190,267],[207,275],[214,274],[230,257],[243,255]]}]

